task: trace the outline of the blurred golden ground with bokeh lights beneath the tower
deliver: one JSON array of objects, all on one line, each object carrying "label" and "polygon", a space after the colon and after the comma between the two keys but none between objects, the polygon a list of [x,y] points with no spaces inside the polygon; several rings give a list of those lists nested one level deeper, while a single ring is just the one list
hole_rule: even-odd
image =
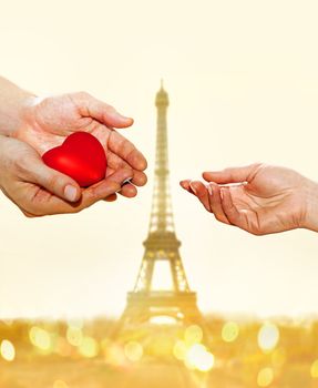
[{"label": "blurred golden ground with bokeh lights beneath the tower", "polygon": [[[73,346],[66,339],[68,329],[70,333],[73,329],[74,333],[82,333],[82,329],[70,327],[68,323],[13,324],[10,328],[12,333],[9,335],[8,326],[2,324],[1,339],[7,339],[2,341],[0,339],[0,387],[14,387],[14,384],[11,385],[11,380],[7,378],[11,374],[10,370],[17,379],[20,378],[20,375],[23,376],[23,379],[28,379],[28,376],[32,376],[31,371],[35,372],[38,366],[42,367],[42,365],[48,368],[48,375],[43,374],[45,384],[41,387],[48,388],[74,388],[75,386],[85,388],[88,384],[85,377],[91,378],[95,371],[99,374],[96,387],[113,387],[120,380],[130,381],[131,376],[142,376],[142,379],[147,380],[152,375],[150,371],[152,368],[154,368],[154,374],[157,374],[158,368],[165,370],[162,374],[163,380],[167,374],[178,379],[177,376],[181,372],[186,380],[199,382],[198,386],[204,382],[206,388],[215,385],[217,387],[274,388],[280,387],[284,381],[288,388],[300,386],[309,388],[309,385],[314,388],[317,384],[318,357],[315,351],[318,323],[317,325],[302,325],[298,328],[293,326],[293,336],[288,336],[291,325],[275,321],[279,328],[279,338],[283,340],[271,348],[270,353],[261,349],[257,341],[258,336],[263,338],[260,334],[266,333],[265,327],[267,330],[273,328],[268,325],[268,320],[253,325],[240,320],[239,340],[232,340],[227,344],[225,340],[235,338],[237,334],[236,325],[229,323],[233,320],[224,319],[218,325],[209,326],[213,351],[209,350],[209,343],[205,341],[205,337],[202,338],[201,329],[195,325],[183,328],[157,328],[150,325],[147,331],[145,329],[145,331],[131,330],[126,337],[123,336],[116,340],[111,335],[113,326],[106,320],[102,326],[101,321],[96,320],[95,325],[90,323],[85,326],[88,335],[82,335],[81,345]],[[25,333],[29,333],[32,341],[29,340]],[[76,338],[76,335],[74,337]],[[269,338],[273,346],[278,335],[275,336],[275,341],[273,335]],[[197,340],[201,341],[194,343]],[[265,344],[269,343],[265,341]],[[17,354],[19,354],[19,363],[16,361]],[[298,361],[295,361],[296,357]],[[10,365],[6,363],[6,360],[13,359],[14,361]],[[23,371],[23,363],[29,375]],[[72,368],[75,366],[79,366],[83,372],[82,380],[80,377],[74,379],[72,377]],[[307,382],[299,385],[299,381]]]}]

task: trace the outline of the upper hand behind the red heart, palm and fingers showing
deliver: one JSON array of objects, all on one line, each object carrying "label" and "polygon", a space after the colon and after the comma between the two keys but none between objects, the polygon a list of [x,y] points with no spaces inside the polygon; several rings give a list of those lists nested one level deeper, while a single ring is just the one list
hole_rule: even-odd
[{"label": "upper hand behind the red heart, palm and fingers showing", "polygon": [[146,183],[143,172],[146,169],[145,157],[134,144],[114,130],[131,126],[132,119],[121,115],[111,105],[85,92],[34,98],[29,101],[31,103],[24,108],[21,125],[14,131],[13,137],[32,145],[42,155],[60,145],[73,132],[90,132],[100,140],[105,150],[107,176],[120,169],[132,169],[131,184],[122,187],[122,195],[135,196],[135,186]]}]

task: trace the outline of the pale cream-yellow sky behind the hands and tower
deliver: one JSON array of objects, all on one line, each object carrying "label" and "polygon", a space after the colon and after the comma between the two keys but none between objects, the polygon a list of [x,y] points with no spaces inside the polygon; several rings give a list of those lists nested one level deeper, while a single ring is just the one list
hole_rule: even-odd
[{"label": "pale cream-yellow sky behind the hands and tower", "polygon": [[135,200],[25,219],[0,196],[0,317],[119,315],[143,255],[154,96],[170,93],[177,235],[204,312],[317,313],[318,235],[255,237],[178,187],[255,161],[318,180],[318,3],[281,0],[0,1],[0,73],[39,94],[86,90],[135,119],[150,161]]}]

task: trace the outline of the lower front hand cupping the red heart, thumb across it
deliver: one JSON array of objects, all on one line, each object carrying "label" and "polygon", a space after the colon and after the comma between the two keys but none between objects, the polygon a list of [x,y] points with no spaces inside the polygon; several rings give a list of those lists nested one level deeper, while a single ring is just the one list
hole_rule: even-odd
[{"label": "lower front hand cupping the red heart, thumb across it", "polygon": [[89,188],[48,167],[29,144],[0,135],[0,188],[29,217],[78,213],[95,202],[114,200],[133,171],[117,169]]}]

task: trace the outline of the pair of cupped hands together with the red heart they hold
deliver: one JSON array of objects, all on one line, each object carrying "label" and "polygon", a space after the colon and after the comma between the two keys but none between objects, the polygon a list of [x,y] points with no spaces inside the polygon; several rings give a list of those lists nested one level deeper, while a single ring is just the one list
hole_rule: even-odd
[{"label": "pair of cupped hands together with the red heart they hold", "polygon": [[[133,120],[88,93],[42,100],[30,98],[21,110],[20,120],[20,126],[10,136],[1,139],[0,154],[3,150],[3,154],[19,155],[6,161],[14,169],[12,165],[4,169],[7,175],[3,174],[1,187],[27,216],[75,213],[100,200],[115,201],[116,193],[133,197],[137,194],[136,186],[146,183],[145,157],[115,130],[131,126]],[[50,165],[50,160],[54,159],[52,153],[57,151],[52,149],[60,146],[68,136],[65,145],[73,143],[73,151],[78,147],[78,151],[93,152],[95,165],[92,167],[96,167],[100,175],[91,174],[89,181],[82,182],[76,174],[71,177],[43,163],[41,155]],[[90,166],[82,167],[88,170]],[[14,175],[13,185],[9,171]],[[126,181],[130,183],[124,184]]]}]

